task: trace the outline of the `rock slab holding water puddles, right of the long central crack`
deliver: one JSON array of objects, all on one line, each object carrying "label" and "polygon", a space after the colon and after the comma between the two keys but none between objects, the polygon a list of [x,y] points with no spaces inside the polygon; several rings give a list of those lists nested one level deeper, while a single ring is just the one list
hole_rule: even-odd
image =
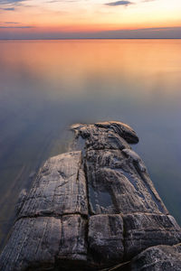
[{"label": "rock slab holding water puddles, right of the long central crack", "polygon": [[148,177],[141,178],[120,150],[87,151],[85,165],[92,214],[160,210],[167,214]]}]

